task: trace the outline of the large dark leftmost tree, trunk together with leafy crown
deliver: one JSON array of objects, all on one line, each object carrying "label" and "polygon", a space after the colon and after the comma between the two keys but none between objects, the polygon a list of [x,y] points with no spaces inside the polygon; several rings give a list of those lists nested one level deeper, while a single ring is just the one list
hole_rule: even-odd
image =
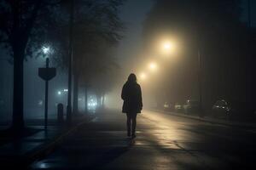
[{"label": "large dark leftmost tree, trunk together with leafy crown", "polygon": [[[0,2],[0,42],[9,50],[14,64],[13,123],[15,129],[24,127],[23,120],[23,61],[32,56],[44,42],[49,11],[60,3],[57,0],[3,0]],[[56,8],[56,6],[55,6]]]}]

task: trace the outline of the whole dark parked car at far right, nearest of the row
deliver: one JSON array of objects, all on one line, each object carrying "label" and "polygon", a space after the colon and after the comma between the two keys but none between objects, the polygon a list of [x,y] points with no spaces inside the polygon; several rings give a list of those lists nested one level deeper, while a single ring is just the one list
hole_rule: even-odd
[{"label": "whole dark parked car at far right, nearest of the row", "polygon": [[253,118],[253,109],[246,102],[222,99],[212,106],[212,116],[239,121],[250,120]]}]

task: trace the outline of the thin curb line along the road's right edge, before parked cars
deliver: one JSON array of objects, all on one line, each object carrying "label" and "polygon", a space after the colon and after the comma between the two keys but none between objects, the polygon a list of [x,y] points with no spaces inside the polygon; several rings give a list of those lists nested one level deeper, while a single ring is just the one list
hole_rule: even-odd
[{"label": "thin curb line along the road's right edge, before parked cars", "polygon": [[154,110],[154,109],[148,109],[149,111],[159,111],[161,113],[164,114],[171,114],[172,116],[180,116],[180,117],[184,117],[184,118],[189,118],[189,119],[194,119],[196,121],[201,121],[201,122],[209,122],[212,124],[219,124],[219,125],[224,125],[224,126],[230,126],[230,127],[243,127],[243,128],[256,128],[256,124],[252,125],[252,124],[237,124],[236,122],[218,122],[218,121],[213,121],[213,120],[207,120],[205,118],[201,118],[201,117],[196,117],[196,116],[188,116],[188,115],[183,115],[182,113],[175,113],[172,111],[161,111],[161,110]]}]

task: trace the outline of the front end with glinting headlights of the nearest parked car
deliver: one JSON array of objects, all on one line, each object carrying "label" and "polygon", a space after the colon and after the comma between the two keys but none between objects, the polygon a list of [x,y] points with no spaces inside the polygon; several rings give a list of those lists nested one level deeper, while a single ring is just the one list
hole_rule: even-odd
[{"label": "front end with glinting headlights of the nearest parked car", "polygon": [[212,116],[230,119],[230,106],[224,99],[217,100],[212,106]]}]

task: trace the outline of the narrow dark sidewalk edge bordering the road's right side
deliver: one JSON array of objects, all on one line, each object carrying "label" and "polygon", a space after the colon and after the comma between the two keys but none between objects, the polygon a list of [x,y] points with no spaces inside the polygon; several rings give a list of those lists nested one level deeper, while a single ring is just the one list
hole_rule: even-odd
[{"label": "narrow dark sidewalk edge bordering the road's right side", "polygon": [[226,125],[226,126],[231,126],[231,127],[256,128],[256,123],[232,122],[232,121],[226,121],[224,119],[213,118],[213,117],[210,117],[210,116],[199,117],[199,116],[185,115],[183,113],[176,113],[176,112],[172,112],[172,111],[161,111],[161,110],[155,110],[155,109],[149,109],[149,110],[150,111],[159,111],[161,113],[171,114],[173,116],[182,116],[182,117],[185,117],[185,118],[195,119],[197,121],[210,122],[210,123]]}]

